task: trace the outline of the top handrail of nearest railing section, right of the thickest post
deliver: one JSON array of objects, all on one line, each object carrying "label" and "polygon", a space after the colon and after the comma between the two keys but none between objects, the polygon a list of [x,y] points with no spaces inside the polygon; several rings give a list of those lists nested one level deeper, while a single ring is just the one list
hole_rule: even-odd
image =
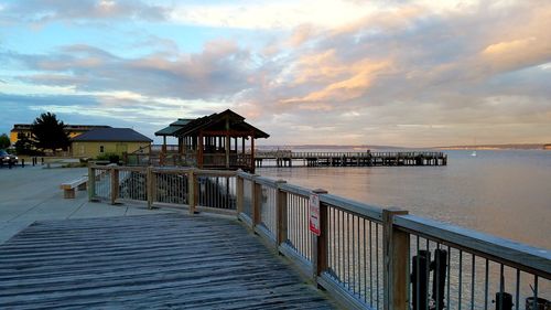
[{"label": "top handrail of nearest railing section, right of the thickest post", "polygon": [[428,237],[474,253],[480,257],[551,279],[551,250],[549,249],[528,246],[414,215],[396,216],[393,224],[408,233]]}]

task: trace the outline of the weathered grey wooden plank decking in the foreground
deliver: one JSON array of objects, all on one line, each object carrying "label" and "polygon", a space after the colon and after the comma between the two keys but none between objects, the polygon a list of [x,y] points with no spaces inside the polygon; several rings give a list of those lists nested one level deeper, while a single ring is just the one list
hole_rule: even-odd
[{"label": "weathered grey wooden plank decking in the foreground", "polygon": [[233,220],[37,222],[0,245],[1,309],[332,309]]}]

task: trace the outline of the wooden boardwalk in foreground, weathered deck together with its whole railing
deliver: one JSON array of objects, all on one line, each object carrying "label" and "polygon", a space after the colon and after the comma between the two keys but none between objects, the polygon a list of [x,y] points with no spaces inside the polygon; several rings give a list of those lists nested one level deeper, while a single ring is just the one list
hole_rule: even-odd
[{"label": "wooden boardwalk in foreground, weathered deck together with its whole railing", "polygon": [[549,249],[406,210],[246,172],[93,164],[88,175],[79,204],[141,205],[142,215],[29,226],[0,246],[0,306],[503,310],[551,300]]}]

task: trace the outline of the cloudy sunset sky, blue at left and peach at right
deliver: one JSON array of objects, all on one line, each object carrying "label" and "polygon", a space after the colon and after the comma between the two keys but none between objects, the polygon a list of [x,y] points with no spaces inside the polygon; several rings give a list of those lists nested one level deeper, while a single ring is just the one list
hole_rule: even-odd
[{"label": "cloudy sunset sky, blue at left and peach at right", "polygon": [[551,143],[551,1],[0,0],[0,133],[228,108],[263,145]]}]

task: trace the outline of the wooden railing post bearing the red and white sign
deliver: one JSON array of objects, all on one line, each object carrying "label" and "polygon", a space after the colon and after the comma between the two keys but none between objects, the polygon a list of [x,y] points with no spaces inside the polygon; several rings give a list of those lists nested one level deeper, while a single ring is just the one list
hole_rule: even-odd
[{"label": "wooden railing post bearing the red and white sign", "polygon": [[[326,194],[327,191],[317,189],[312,191],[313,194]],[[310,210],[310,209],[309,209]],[[309,216],[310,218],[310,216]],[[323,271],[327,270],[328,256],[327,256],[327,234],[328,234],[328,216],[327,216],[327,205],[320,202],[320,236],[312,234],[312,265],[313,265],[313,278],[317,282],[317,277],[322,275]]]}]

